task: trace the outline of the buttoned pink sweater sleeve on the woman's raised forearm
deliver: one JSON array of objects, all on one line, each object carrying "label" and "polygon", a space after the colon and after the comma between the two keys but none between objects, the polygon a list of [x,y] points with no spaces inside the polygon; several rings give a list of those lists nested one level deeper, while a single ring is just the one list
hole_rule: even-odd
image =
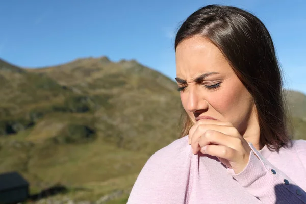
[{"label": "buttoned pink sweater sleeve on the woman's raised forearm", "polygon": [[235,174],[228,168],[227,173],[262,203],[305,204],[306,192],[267,161],[251,143],[249,146],[252,151],[245,169]]}]

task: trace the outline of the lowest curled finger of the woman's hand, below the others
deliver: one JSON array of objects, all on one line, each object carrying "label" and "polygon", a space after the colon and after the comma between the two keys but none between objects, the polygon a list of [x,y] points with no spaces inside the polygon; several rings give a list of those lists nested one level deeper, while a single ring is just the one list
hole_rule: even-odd
[{"label": "lowest curled finger of the woman's hand, below the others", "polygon": [[237,151],[235,149],[223,145],[206,145],[205,148],[201,148],[200,151],[203,154],[223,158],[231,162],[235,162],[238,158],[236,157]]}]

